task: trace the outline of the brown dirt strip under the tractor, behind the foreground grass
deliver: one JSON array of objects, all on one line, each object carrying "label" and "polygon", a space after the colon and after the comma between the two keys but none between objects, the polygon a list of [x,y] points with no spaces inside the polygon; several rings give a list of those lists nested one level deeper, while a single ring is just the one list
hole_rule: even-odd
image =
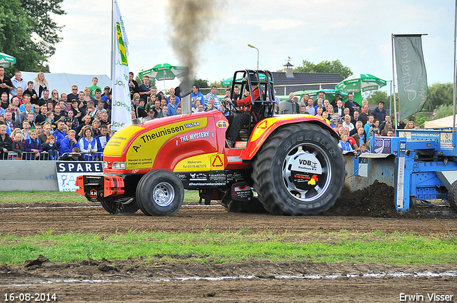
[{"label": "brown dirt strip under the tractor, behind the foreground grass", "polygon": [[[371,232],[409,232],[429,235],[442,231],[442,224],[451,225],[457,230],[456,216],[441,218],[439,223],[433,220],[434,215],[427,218],[401,217],[361,217],[361,216],[322,216],[286,217],[268,214],[243,214],[226,212],[219,205],[202,206],[191,203],[184,206],[173,217],[148,217],[139,210],[135,215],[110,215],[96,202],[41,203],[41,204],[9,204],[1,209],[0,232],[5,235],[36,235],[42,231],[53,229],[54,233],[64,232],[125,232],[126,230],[150,230],[168,232],[236,232],[247,229],[251,232],[271,231],[293,233],[308,231],[334,232],[353,230]],[[81,208],[66,208],[80,206]],[[1,207],[1,205],[0,205]],[[4,206],[3,206],[4,207]],[[40,208],[43,207],[43,208]],[[54,207],[54,208],[49,208]],[[423,217],[425,215],[421,215]]]}]

